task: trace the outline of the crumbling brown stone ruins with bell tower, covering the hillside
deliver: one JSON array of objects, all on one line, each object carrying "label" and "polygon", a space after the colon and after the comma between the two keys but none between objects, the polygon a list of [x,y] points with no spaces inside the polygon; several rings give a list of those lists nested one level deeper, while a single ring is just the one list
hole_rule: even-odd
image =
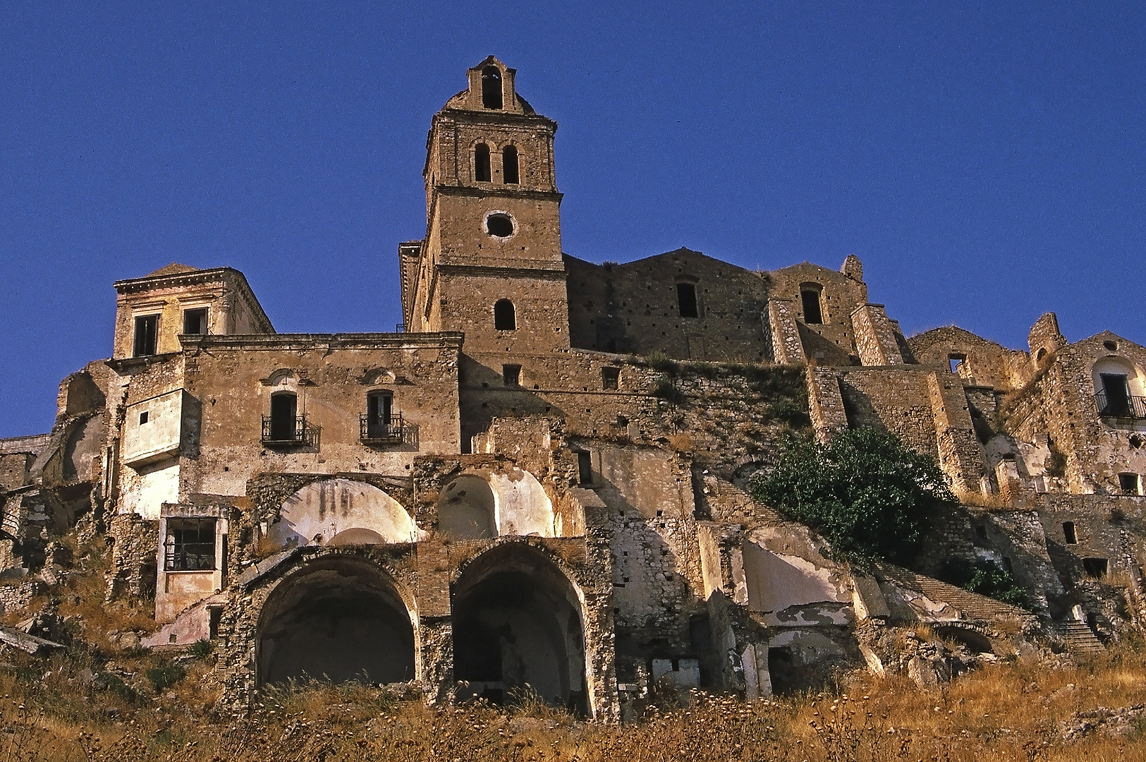
[{"label": "crumbling brown stone ruins with bell tower, covering the hillside", "polygon": [[[226,267],[115,284],[111,358],[64,379],[50,433],[0,440],[2,566],[29,574],[6,606],[50,584],[53,537],[105,531],[109,599],[154,599],[150,647],[214,639],[236,701],[325,675],[602,717],[658,681],[894,669],[903,622],[1003,655],[1138,626],[1146,348],[1053,314],[1029,351],[905,338],[854,256],[566,254],[557,124],[515,76],[489,57],[433,116],[399,330],[276,333]],[[785,433],[863,425],[963,503],[912,572],[833,561],[746,492]],[[1033,611],[934,579],[959,558]]]}]

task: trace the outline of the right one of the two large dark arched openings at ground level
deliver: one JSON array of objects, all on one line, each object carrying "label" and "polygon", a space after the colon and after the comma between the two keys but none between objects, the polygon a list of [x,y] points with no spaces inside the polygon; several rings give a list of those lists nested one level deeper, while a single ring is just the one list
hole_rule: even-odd
[{"label": "right one of the two large dark arched openings at ground level", "polygon": [[532,690],[588,713],[581,600],[540,551],[505,543],[465,567],[450,591],[458,698],[503,702]]}]

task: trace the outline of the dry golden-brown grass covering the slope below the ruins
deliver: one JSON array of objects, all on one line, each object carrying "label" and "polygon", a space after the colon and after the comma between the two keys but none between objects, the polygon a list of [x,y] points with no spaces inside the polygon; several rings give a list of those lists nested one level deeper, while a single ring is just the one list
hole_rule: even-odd
[{"label": "dry golden-brown grass covering the slope below the ruins", "polygon": [[[1077,713],[1146,704],[1144,653],[1127,647],[1080,667],[1003,663],[924,691],[902,676],[841,678],[835,690],[767,701],[694,694],[689,706],[619,725],[580,721],[534,700],[431,708],[359,685],[269,691],[250,716],[204,697],[206,660],[162,694],[138,676],[158,657],[117,659],[128,691],[107,688],[91,657],[0,669],[5,760],[1143,760],[1140,721],[1078,738]],[[135,678],[131,678],[135,675]]]}]

